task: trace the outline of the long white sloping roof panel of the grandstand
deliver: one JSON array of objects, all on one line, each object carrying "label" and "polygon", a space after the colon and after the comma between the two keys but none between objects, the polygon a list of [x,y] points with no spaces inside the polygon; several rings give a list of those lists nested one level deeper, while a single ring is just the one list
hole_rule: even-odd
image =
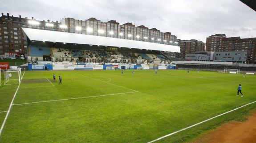
[{"label": "long white sloping roof panel of the grandstand", "polygon": [[135,41],[128,39],[118,39],[103,36],[85,35],[77,33],[47,31],[32,28],[22,28],[24,33],[30,40],[46,41],[46,42],[59,42],[59,43],[74,43],[86,45],[100,45],[100,46],[115,46],[144,50],[160,50],[167,52],[180,53],[179,46],[150,43],[143,41]]}]

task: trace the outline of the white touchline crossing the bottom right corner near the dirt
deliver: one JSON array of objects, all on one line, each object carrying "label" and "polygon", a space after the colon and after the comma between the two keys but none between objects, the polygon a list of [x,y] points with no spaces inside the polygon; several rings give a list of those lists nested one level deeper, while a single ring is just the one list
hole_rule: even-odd
[{"label": "white touchline crossing the bottom right corner near the dirt", "polygon": [[225,115],[225,114],[227,114],[227,113],[229,113],[229,112],[233,112],[233,111],[235,111],[235,110],[237,110],[237,109],[243,108],[244,106],[247,106],[247,105],[250,105],[250,104],[253,104],[253,103],[256,103],[256,101],[251,102],[251,103],[248,103],[248,104],[245,104],[245,105],[243,105],[243,106],[240,106],[240,107],[235,108],[235,109],[233,109],[233,110],[230,110],[230,111],[228,111],[228,112],[224,112],[224,113],[219,114],[219,115],[217,115],[217,116],[214,116],[214,117],[212,117],[212,118],[210,118],[210,119],[204,120],[204,121],[199,122],[199,123],[194,124],[194,125],[191,125],[191,126],[189,126],[189,127],[187,127],[187,128],[183,128],[183,129],[181,129],[181,130],[179,130],[179,131],[172,132],[171,134],[164,135],[164,136],[162,136],[162,137],[160,137],[160,138],[158,138],[158,139],[152,140],[152,141],[150,141],[150,142],[148,142],[148,143],[153,143],[153,142],[156,142],[156,141],[158,141],[158,140],[164,139],[164,138],[166,138],[166,137],[168,137],[168,136],[177,134],[178,132],[187,130],[187,129],[189,129],[189,128],[192,128],[192,127],[194,127],[194,126],[197,126],[197,125],[199,125],[199,124],[202,124],[202,123],[204,123],[204,122],[207,122],[207,121],[209,121],[209,120],[212,120],[212,119],[217,118],[217,117],[219,117],[219,116]]}]

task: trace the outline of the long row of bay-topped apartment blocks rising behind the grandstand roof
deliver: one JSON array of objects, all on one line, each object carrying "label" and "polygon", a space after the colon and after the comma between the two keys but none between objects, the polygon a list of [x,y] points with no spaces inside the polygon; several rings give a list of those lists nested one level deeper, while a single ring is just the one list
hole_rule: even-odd
[{"label": "long row of bay-topped apartment blocks rising behind the grandstand roof", "polygon": [[61,20],[61,24],[66,25],[67,31],[71,33],[106,36],[168,45],[174,45],[177,40],[177,37],[171,35],[171,32],[163,33],[156,28],[149,29],[144,25],[136,27],[133,23],[124,23],[121,25],[116,22],[116,20],[102,22],[95,18],[89,18],[87,20],[65,18]]}]

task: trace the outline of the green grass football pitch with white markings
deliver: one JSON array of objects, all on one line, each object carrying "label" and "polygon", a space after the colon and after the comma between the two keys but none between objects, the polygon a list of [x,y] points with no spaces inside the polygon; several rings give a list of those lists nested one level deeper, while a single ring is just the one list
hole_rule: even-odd
[{"label": "green grass football pitch with white markings", "polygon": [[[256,100],[256,76],[185,70],[26,71],[1,143],[146,143]],[[53,81],[52,75],[63,81]],[[242,84],[244,97],[236,96]],[[0,86],[0,112],[18,85]],[[255,108],[235,112],[159,142],[185,142]],[[0,113],[2,124],[6,112]]]}]

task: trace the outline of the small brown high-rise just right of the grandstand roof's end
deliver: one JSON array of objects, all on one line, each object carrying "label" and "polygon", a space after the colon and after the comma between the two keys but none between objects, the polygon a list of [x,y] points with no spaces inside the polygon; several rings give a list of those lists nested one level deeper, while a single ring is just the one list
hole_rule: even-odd
[{"label": "small brown high-rise just right of the grandstand roof's end", "polygon": [[185,59],[186,54],[192,54],[199,51],[205,51],[205,43],[199,40],[177,40],[180,47],[180,53],[176,57]]}]

